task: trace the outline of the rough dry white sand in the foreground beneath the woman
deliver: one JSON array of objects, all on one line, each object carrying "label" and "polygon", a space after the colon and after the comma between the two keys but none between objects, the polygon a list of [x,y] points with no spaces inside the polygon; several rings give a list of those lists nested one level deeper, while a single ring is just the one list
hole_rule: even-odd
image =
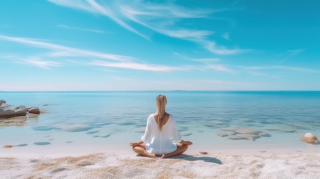
[{"label": "rough dry white sand in the foreground beneath the woman", "polygon": [[[195,148],[170,159],[137,156],[130,148],[52,153],[2,149],[1,178],[320,178],[320,152],[271,154],[214,152]],[[107,151],[107,152],[106,152]],[[69,156],[69,157],[66,157]]]}]

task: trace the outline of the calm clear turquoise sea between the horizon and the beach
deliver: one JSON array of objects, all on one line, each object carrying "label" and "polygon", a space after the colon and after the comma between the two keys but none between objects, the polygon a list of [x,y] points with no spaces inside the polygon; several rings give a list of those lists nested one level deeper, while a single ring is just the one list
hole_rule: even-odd
[{"label": "calm clear turquoise sea between the horizon and the beach", "polygon": [[[158,94],[167,96],[182,138],[194,143],[190,151],[320,151],[319,143],[299,140],[305,133],[320,137],[320,91],[2,91],[9,105],[47,112],[0,119],[0,145],[18,146],[0,152],[130,152]],[[263,135],[236,140],[240,128]]]}]

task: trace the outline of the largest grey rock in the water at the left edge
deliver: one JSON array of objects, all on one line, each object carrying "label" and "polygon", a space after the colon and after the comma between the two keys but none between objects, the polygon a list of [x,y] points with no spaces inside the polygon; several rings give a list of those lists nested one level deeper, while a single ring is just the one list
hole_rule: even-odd
[{"label": "largest grey rock in the water at the left edge", "polygon": [[0,105],[0,118],[10,118],[15,116],[25,116],[27,108],[25,106],[10,106],[6,103]]}]

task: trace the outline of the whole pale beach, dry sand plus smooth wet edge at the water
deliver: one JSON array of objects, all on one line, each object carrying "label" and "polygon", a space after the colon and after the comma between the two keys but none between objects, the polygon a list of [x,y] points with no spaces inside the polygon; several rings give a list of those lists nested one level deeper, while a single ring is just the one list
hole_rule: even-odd
[{"label": "whole pale beach, dry sand plus smooth wet edge at the water", "polygon": [[72,143],[66,143],[70,138],[65,136],[49,140],[49,145],[28,143],[12,148],[2,146],[24,144],[24,139],[9,142],[2,138],[0,178],[320,178],[319,142],[266,138],[270,141],[219,143],[217,138],[208,144],[189,137],[194,144],[185,154],[151,159],[137,156],[128,145],[136,136],[112,136]]}]

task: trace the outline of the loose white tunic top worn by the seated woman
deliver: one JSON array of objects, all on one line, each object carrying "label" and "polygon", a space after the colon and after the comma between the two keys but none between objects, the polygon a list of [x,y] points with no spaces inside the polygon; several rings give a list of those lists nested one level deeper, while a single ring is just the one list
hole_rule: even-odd
[{"label": "loose white tunic top worn by the seated woman", "polygon": [[155,155],[169,154],[177,149],[176,143],[173,143],[171,138],[176,143],[181,142],[181,135],[178,133],[174,116],[169,115],[168,122],[160,132],[154,115],[150,114],[145,135],[141,137],[141,140],[146,144],[146,150]]}]

